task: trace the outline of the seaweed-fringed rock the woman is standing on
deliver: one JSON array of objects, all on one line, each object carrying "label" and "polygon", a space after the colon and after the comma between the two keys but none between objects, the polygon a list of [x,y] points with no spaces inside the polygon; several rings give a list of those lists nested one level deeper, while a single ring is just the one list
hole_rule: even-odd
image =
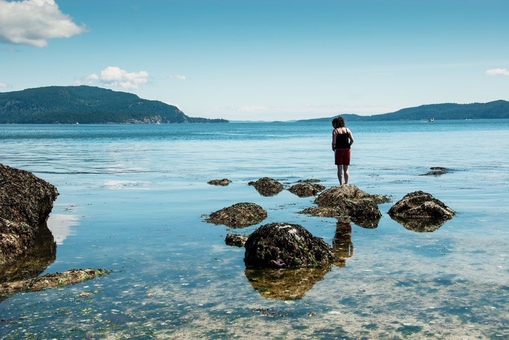
[{"label": "seaweed-fringed rock the woman is standing on", "polygon": [[360,227],[376,228],[382,217],[378,204],[388,201],[382,195],[371,195],[352,184],[343,184],[321,193],[315,199],[318,207],[306,208],[300,213],[320,217],[350,217]]}]

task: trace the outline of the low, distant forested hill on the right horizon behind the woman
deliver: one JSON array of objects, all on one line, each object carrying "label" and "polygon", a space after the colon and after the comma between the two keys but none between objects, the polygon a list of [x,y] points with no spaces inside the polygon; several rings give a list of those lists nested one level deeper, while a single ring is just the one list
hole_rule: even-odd
[{"label": "low, distant forested hill on the right horizon behind the woman", "polygon": [[[509,118],[509,102],[497,100],[489,103],[473,104],[431,104],[417,107],[409,107],[396,112],[375,114],[372,116],[359,116],[357,114],[343,114],[347,121],[359,120],[435,120],[446,119],[492,119]],[[330,121],[334,117],[302,119],[299,122],[306,121]]]}]

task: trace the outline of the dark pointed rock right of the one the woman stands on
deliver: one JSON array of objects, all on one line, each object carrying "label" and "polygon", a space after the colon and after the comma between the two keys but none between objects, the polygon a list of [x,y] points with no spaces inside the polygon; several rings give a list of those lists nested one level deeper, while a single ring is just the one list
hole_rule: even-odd
[{"label": "dark pointed rock right of the one the woman stands on", "polygon": [[396,202],[388,214],[407,229],[434,231],[453,218],[456,211],[428,193],[415,191]]}]

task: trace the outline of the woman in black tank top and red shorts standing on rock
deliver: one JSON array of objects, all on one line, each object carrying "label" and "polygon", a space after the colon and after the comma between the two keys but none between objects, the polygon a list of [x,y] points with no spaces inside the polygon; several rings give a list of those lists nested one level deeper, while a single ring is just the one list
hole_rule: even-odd
[{"label": "woman in black tank top and red shorts standing on rock", "polygon": [[348,184],[348,166],[350,165],[350,146],[353,144],[353,135],[350,129],[345,127],[345,119],[342,116],[332,119],[332,150],[334,151],[334,164],[337,165],[337,179],[343,184],[343,172],[345,184]]}]

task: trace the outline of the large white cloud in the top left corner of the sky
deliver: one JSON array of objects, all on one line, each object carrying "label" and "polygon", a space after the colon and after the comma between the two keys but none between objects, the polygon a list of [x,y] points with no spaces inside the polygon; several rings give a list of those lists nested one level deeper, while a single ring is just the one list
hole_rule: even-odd
[{"label": "large white cloud in the top left corner of the sky", "polygon": [[45,47],[47,39],[83,32],[87,27],[76,25],[54,0],[0,0],[0,40],[4,42]]}]

